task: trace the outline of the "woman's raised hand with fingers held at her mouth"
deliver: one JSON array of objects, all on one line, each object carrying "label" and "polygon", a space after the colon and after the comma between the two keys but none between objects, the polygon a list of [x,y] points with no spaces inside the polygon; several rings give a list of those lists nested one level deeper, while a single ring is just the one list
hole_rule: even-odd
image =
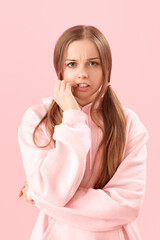
[{"label": "woman's raised hand with fingers held at her mouth", "polygon": [[65,110],[81,110],[75,97],[72,94],[72,86],[65,80],[58,80],[54,86],[53,99],[60,106],[60,108]]}]

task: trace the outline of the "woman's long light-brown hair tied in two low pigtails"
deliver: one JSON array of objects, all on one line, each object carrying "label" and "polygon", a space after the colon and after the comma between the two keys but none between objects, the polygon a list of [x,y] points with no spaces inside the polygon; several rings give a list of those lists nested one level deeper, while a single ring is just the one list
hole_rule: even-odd
[{"label": "woman's long light-brown hair tied in two low pigtails", "polygon": [[[112,178],[122,160],[126,141],[126,117],[120,101],[111,86],[107,87],[110,82],[112,69],[112,55],[110,46],[105,36],[94,26],[77,25],[73,26],[62,33],[56,42],[53,54],[54,68],[59,80],[63,80],[63,61],[70,43],[76,40],[89,39],[92,41],[100,54],[103,72],[103,83],[101,90],[92,102],[90,114],[94,123],[102,130],[103,137],[98,146],[94,157],[91,176],[94,171],[94,166],[97,154],[102,148],[102,162],[99,169],[98,177],[94,184],[94,189],[102,189],[107,182]],[[100,124],[99,118],[93,113],[96,102],[99,102],[99,113],[102,116],[103,124]],[[37,147],[45,148],[51,141],[55,143],[52,138],[55,125],[62,122],[62,109],[53,100],[49,106],[46,115],[41,119],[33,132],[33,141]],[[35,133],[39,125],[45,121],[50,132],[50,142],[45,146],[39,146],[35,142]]]}]

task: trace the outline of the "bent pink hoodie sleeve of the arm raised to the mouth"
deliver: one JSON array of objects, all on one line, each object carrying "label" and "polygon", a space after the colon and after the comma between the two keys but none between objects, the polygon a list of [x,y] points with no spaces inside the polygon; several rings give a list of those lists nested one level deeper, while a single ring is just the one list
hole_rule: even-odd
[{"label": "bent pink hoodie sleeve of the arm raised to the mouth", "polygon": [[[32,199],[39,196],[54,205],[64,206],[83,178],[91,144],[90,128],[84,112],[66,110],[62,123],[54,129],[56,146],[38,148],[33,143],[32,135],[41,119],[41,110],[40,106],[27,109],[18,129],[18,142],[29,184],[27,195]],[[41,143],[46,141],[42,129],[38,131],[38,140]]]}]

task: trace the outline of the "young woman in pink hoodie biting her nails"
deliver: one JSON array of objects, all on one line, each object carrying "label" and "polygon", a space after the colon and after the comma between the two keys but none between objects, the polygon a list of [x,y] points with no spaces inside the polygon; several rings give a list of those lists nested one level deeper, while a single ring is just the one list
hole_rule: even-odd
[{"label": "young woman in pink hoodie biting her nails", "polygon": [[140,240],[148,132],[110,85],[112,57],[95,27],[73,26],[54,49],[53,96],[18,129],[19,196],[40,210],[31,240]]}]

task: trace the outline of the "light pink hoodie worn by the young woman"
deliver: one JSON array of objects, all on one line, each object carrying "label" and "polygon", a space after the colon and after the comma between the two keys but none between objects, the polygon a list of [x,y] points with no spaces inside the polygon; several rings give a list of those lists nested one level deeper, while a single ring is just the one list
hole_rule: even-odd
[{"label": "light pink hoodie worn by the young woman", "polygon": [[[56,144],[37,148],[32,134],[48,110],[52,97],[29,107],[18,129],[27,195],[40,214],[30,240],[140,240],[136,218],[146,185],[148,132],[139,117],[123,106],[127,140],[122,162],[103,189],[93,189],[96,170],[88,181],[102,133],[90,117],[91,103],[81,110],[63,112],[55,126]],[[37,143],[48,143],[43,123]],[[101,152],[95,169],[101,161]]]}]

